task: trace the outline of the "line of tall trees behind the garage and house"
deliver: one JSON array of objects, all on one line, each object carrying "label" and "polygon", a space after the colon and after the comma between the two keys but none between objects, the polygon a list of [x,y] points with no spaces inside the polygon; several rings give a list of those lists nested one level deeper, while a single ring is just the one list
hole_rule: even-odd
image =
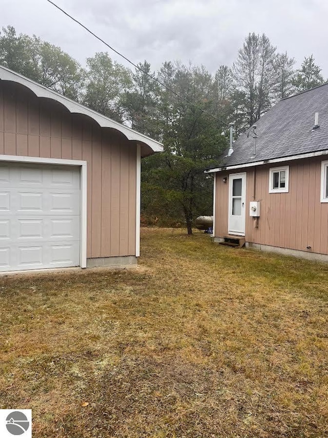
[{"label": "line of tall trees behind the garage and house", "polygon": [[213,180],[203,170],[227,147],[228,123],[238,136],[280,99],[326,82],[313,55],[296,70],[293,57],[255,33],[232,66],[212,74],[179,61],[157,71],[145,61],[132,71],[107,52],[83,67],[59,47],[8,26],[0,33],[0,64],[161,141],[164,152],[142,160],[142,220],[186,224],[188,233],[195,217],[212,214]]}]

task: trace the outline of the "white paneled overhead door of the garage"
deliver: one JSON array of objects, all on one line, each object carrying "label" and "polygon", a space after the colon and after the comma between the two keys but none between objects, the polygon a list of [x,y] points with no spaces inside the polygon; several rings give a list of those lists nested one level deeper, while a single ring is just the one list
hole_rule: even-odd
[{"label": "white paneled overhead door of the garage", "polygon": [[78,166],[0,164],[0,271],[78,266]]}]

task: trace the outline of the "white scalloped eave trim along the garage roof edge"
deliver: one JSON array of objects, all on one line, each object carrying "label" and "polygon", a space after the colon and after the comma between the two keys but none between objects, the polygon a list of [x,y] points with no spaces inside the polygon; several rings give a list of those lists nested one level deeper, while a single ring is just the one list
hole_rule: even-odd
[{"label": "white scalloped eave trim along the garage roof edge", "polygon": [[147,135],[141,134],[128,126],[122,125],[121,123],[115,122],[109,117],[106,117],[103,114],[100,114],[90,108],[85,107],[77,102],[72,101],[66,96],[63,96],[56,91],[51,90],[43,85],[40,85],[31,79],[22,76],[12,70],[9,70],[6,67],[0,66],[0,79],[2,81],[10,81],[21,84],[28,89],[30,89],[37,97],[45,97],[52,99],[56,102],[59,102],[61,105],[64,105],[71,113],[84,114],[91,117],[98,125],[102,128],[112,128],[120,131],[124,134],[128,140],[133,140],[136,142],[142,142],[146,144],[153,152],[162,152],[163,145],[153,138],[148,137]]}]

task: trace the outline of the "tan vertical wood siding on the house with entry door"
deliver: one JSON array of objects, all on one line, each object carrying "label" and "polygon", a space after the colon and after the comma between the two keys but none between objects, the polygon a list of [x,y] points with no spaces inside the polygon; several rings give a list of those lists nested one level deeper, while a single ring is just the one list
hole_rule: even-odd
[{"label": "tan vertical wood siding on the house with entry door", "polygon": [[[269,193],[270,168],[279,164],[244,169],[247,173],[246,242],[300,251],[307,251],[306,247],[311,246],[311,252],[328,254],[328,204],[320,202],[321,162],[325,159],[284,162],[283,166],[289,165],[288,193]],[[229,173],[215,175],[215,236],[223,237],[228,234]],[[223,176],[228,176],[226,184]],[[249,215],[250,201],[260,201],[258,228]]]}]

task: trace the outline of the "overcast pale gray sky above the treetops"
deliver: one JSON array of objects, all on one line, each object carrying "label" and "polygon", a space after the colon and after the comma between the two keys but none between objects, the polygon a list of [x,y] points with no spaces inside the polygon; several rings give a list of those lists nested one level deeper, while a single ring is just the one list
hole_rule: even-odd
[{"label": "overcast pale gray sky above the treetops", "polygon": [[[328,0],[54,0],[135,63],[231,65],[249,32],[265,33],[297,66],[313,53],[328,76]],[[46,0],[2,0],[0,26],[35,34],[81,64],[107,48]],[[109,51],[110,52],[110,51]],[[116,61],[128,66],[110,52]]]}]

